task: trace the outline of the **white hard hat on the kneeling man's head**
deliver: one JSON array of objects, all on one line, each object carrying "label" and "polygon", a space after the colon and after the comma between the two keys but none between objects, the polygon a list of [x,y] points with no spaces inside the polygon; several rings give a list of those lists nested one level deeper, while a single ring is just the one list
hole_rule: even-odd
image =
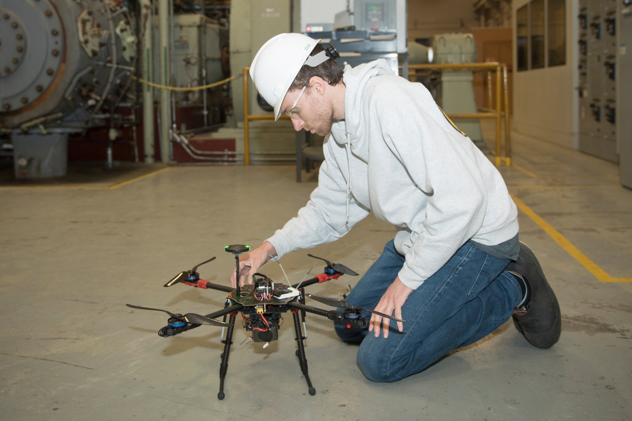
[{"label": "white hard hat on the kneeling man's head", "polygon": [[[274,119],[281,115],[281,103],[303,64],[317,66],[329,60],[310,60],[310,53],[320,42],[302,33],[281,33],[268,40],[250,64],[250,77],[265,102],[274,107]],[[320,54],[317,54],[320,56]],[[315,57],[312,57],[315,58]]]}]

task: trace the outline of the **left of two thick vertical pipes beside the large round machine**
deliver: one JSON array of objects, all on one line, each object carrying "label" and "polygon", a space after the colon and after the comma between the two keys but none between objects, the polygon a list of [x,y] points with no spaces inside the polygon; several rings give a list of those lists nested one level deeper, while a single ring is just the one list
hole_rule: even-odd
[{"label": "left of two thick vertical pipes beside the large round machine", "polygon": [[[143,78],[152,81],[152,63],[153,63],[153,37],[152,30],[154,21],[152,20],[152,2],[151,0],[141,0],[141,40],[142,40],[142,56],[140,61],[143,63]],[[143,85],[143,150],[145,151],[145,163],[155,162],[154,147],[154,89],[149,85]]]}]

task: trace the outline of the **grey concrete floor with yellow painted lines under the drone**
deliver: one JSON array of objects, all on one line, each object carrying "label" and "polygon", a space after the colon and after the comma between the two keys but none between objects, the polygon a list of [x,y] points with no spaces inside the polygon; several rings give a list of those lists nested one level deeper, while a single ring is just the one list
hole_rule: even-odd
[{"label": "grey concrete floor with yellow painted lines under the drone", "polygon": [[[604,276],[632,281],[632,191],[619,186],[617,166],[518,134],[514,160],[516,167],[501,169],[511,193]],[[221,308],[220,292],[162,284],[210,256],[217,259],[202,266],[202,277],[228,283],[234,261],[222,247],[258,245],[315,187],[313,177],[297,184],[294,171],[176,167],[107,190],[0,188],[0,418],[632,417],[632,283],[600,282],[523,211],[520,237],[538,254],[561,304],[563,331],[553,348],[532,347],[507,322],[420,374],[377,384],[358,370],[356,347],[311,316],[306,352],[317,394],[310,396],[288,320],[266,349],[238,327],[226,399],[218,401],[221,329],[161,338],[166,317],[125,304],[202,314]],[[369,216],[311,252],[362,274],[393,232]],[[305,254],[281,259],[292,280],[312,266]],[[262,271],[283,278],[275,263]],[[343,276],[312,292],[340,297],[355,282]]]}]

